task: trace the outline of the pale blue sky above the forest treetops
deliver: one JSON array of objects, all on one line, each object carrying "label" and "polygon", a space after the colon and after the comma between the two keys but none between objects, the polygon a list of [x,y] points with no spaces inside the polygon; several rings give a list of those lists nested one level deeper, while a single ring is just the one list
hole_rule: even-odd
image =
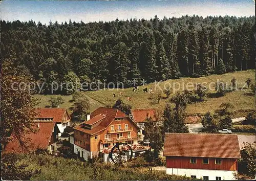
[{"label": "pale blue sky above the forest treetops", "polygon": [[58,21],[111,21],[150,19],[157,15],[255,15],[254,0],[166,0],[166,1],[1,1],[2,20],[20,20],[49,24]]}]

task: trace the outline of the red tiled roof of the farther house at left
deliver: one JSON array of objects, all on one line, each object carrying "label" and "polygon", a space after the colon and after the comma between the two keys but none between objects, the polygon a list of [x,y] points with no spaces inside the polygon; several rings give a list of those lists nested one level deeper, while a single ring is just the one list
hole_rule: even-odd
[{"label": "red tiled roof of the farther house at left", "polygon": [[[36,118],[53,118],[53,122],[62,122],[66,108],[38,108],[36,109]],[[71,119],[70,115],[67,115]]]}]

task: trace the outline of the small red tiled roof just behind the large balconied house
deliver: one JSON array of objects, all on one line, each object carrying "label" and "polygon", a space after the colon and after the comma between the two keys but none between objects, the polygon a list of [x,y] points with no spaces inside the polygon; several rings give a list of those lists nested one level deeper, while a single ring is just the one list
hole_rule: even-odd
[{"label": "small red tiled roof just behind the large balconied house", "polygon": [[149,109],[132,109],[131,113],[134,118],[135,123],[142,123],[145,122],[146,116],[148,114],[148,117],[152,117],[153,121],[155,121],[155,112],[156,109],[149,108]]}]

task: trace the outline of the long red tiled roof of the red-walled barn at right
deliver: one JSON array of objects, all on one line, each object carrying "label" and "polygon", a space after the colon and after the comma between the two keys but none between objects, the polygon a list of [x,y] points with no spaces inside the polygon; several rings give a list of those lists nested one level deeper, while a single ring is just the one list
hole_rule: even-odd
[{"label": "long red tiled roof of the red-walled barn at right", "polygon": [[163,156],[240,159],[236,134],[165,133]]}]

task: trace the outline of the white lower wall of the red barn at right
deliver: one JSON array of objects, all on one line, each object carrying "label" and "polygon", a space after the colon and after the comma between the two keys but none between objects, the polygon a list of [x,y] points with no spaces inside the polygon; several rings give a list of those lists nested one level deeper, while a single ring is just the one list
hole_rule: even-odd
[{"label": "white lower wall of the red barn at right", "polygon": [[217,176],[221,177],[221,180],[234,180],[233,173],[236,171],[229,170],[206,170],[206,169],[184,169],[184,168],[166,168],[166,174],[175,175],[186,175],[191,177],[191,175],[197,176],[199,179],[204,179],[204,176],[208,176],[209,180],[216,180]]}]

